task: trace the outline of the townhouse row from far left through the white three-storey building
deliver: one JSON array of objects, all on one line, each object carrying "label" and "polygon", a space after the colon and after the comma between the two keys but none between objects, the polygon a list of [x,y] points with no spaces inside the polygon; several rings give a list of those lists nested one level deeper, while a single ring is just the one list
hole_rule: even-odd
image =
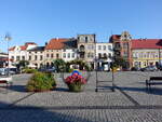
[{"label": "townhouse row from far left through the white three-storey building", "polygon": [[[95,35],[78,35],[77,38],[51,39],[44,46],[33,42],[9,49],[10,65],[19,60],[29,60],[30,66],[40,68],[52,67],[53,60],[63,58],[65,62],[83,59],[92,68],[107,70],[112,57],[112,43],[96,42]],[[97,66],[96,66],[97,65]]]}]

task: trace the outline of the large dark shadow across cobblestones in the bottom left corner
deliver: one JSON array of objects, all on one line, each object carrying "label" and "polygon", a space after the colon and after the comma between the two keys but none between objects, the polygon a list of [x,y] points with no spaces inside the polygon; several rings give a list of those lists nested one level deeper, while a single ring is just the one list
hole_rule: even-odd
[{"label": "large dark shadow across cobblestones in the bottom left corner", "polygon": [[87,119],[41,107],[10,106],[0,101],[1,122],[92,122]]}]

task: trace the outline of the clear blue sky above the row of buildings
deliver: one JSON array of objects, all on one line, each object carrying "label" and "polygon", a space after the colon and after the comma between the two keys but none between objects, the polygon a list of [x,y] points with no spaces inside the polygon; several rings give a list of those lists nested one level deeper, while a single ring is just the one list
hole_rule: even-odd
[{"label": "clear blue sky above the row of buildings", "polygon": [[0,49],[51,38],[96,33],[99,42],[111,33],[162,38],[162,0],[0,0]]}]

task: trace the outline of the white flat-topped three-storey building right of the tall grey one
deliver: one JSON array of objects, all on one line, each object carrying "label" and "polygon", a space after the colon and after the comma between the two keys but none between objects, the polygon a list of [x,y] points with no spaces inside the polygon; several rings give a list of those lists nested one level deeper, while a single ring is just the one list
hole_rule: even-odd
[{"label": "white flat-topped three-storey building right of the tall grey one", "polygon": [[109,70],[112,54],[112,43],[96,43],[97,68],[99,70]]}]

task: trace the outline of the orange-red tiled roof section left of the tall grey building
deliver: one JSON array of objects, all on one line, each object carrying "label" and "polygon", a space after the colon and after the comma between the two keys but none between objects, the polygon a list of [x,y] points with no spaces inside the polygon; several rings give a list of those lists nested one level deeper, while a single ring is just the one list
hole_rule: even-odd
[{"label": "orange-red tiled roof section left of the tall grey building", "polygon": [[60,50],[65,46],[64,42],[68,40],[69,39],[51,39],[45,45],[45,50]]}]

